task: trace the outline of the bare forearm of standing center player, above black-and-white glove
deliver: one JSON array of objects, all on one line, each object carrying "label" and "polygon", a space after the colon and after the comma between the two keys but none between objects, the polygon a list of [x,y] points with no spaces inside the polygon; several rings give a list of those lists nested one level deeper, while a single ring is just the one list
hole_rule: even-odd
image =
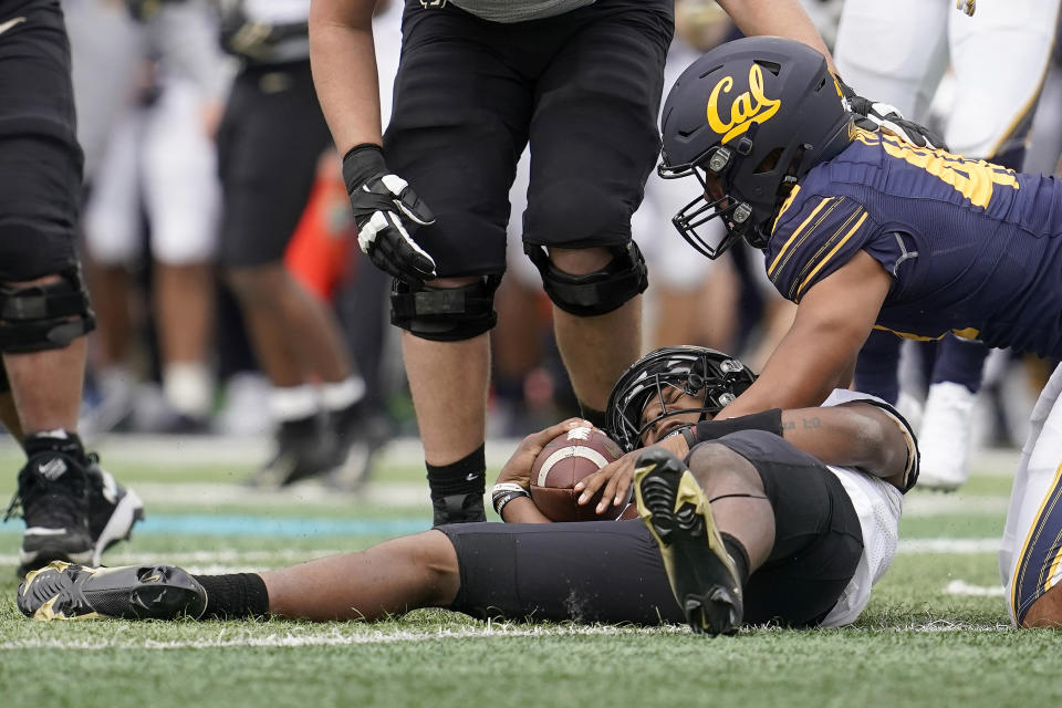
[{"label": "bare forearm of standing center player, above black-and-white glove", "polygon": [[314,0],[310,8],[313,83],[340,155],[382,143],[375,6],[375,0]]}]

